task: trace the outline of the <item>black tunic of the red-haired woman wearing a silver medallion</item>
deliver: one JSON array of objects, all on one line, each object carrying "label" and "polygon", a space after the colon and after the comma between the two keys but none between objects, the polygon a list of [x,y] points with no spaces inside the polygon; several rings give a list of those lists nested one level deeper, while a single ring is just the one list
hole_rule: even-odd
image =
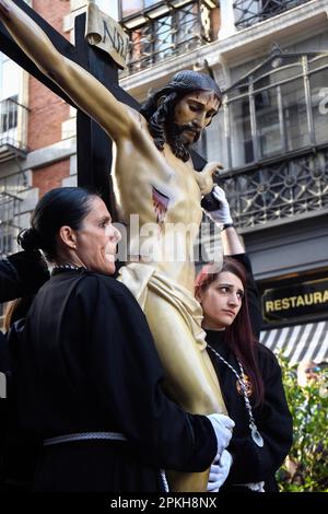
[{"label": "black tunic of the red-haired woman wearing a silver medallion", "polygon": [[[258,337],[261,316],[250,262],[244,254],[233,257],[248,271],[248,305],[254,332]],[[207,341],[239,373],[236,358],[222,339],[222,331],[207,330]],[[258,447],[250,436],[249,417],[244,397],[237,393],[235,374],[211,350],[209,355],[218,374],[229,416],[235,421],[233,437],[227,448],[233,454],[234,460],[220,491],[242,492],[245,489],[236,488],[234,484],[258,481],[265,481],[265,491],[277,491],[274,472],[286,457],[293,437],[292,417],[283,390],[279,363],[271,350],[259,343],[258,362],[263,379],[265,398],[260,408],[253,406],[253,416],[265,445]],[[253,404],[251,396],[249,399]]]}]

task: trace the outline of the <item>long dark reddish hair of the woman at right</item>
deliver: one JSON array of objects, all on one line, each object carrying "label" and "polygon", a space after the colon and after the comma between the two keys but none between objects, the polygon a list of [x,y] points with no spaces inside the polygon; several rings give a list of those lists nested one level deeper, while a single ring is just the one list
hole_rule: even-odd
[{"label": "long dark reddish hair of the woman at right", "polygon": [[212,264],[206,265],[196,278],[195,294],[200,292],[216,280],[223,271],[229,271],[242,281],[245,290],[245,296],[241,309],[230,327],[226,327],[223,334],[223,340],[231,348],[235,357],[242,362],[246,375],[249,376],[254,385],[254,397],[256,405],[263,400],[263,381],[258,366],[258,340],[256,339],[250,324],[248,302],[247,302],[247,278],[244,266],[232,257],[223,258],[223,266],[220,272],[213,270]]}]

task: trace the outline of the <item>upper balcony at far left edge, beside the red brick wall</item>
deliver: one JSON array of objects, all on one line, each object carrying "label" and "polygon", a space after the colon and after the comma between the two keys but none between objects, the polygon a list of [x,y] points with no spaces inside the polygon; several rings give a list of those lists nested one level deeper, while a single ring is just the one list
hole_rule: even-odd
[{"label": "upper balcony at far left edge, beside the red brick wall", "polygon": [[0,102],[0,162],[27,152],[28,109],[16,96]]}]

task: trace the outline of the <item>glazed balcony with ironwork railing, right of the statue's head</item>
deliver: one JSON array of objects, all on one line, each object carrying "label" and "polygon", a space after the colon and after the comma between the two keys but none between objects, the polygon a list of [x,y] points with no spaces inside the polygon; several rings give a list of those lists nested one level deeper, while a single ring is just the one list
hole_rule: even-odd
[{"label": "glazed balcony with ironwork railing, right of the statue's head", "polygon": [[215,137],[229,163],[222,180],[238,226],[328,207],[325,84],[328,54],[274,52],[225,92]]}]

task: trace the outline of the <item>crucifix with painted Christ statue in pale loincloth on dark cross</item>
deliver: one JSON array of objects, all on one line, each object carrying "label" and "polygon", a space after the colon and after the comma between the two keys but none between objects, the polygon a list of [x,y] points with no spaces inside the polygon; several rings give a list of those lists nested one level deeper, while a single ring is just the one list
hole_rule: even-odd
[{"label": "crucifix with painted Christ statue in pale loincloth on dark cross", "polygon": [[[208,163],[197,173],[202,163],[195,154],[194,163],[189,150],[221,106],[218,84],[206,74],[185,70],[139,110],[118,87],[114,65],[85,46],[83,22],[78,21],[74,48],[22,0],[0,0],[0,14],[17,42],[12,50],[4,32],[0,49],[62,98],[72,98],[68,100],[71,105],[103,127],[104,133],[79,114],[78,174],[79,185],[102,190],[110,211],[108,136],[115,144],[113,183],[120,215],[130,226],[133,257],[120,269],[118,280],[145,313],[165,370],[166,390],[188,412],[226,412],[206,351],[201,306],[194,295],[192,252],[202,219],[201,197],[212,190],[212,175],[222,166]],[[136,214],[138,227],[133,230]],[[203,491],[207,481],[208,472],[172,478],[176,491]]]}]

